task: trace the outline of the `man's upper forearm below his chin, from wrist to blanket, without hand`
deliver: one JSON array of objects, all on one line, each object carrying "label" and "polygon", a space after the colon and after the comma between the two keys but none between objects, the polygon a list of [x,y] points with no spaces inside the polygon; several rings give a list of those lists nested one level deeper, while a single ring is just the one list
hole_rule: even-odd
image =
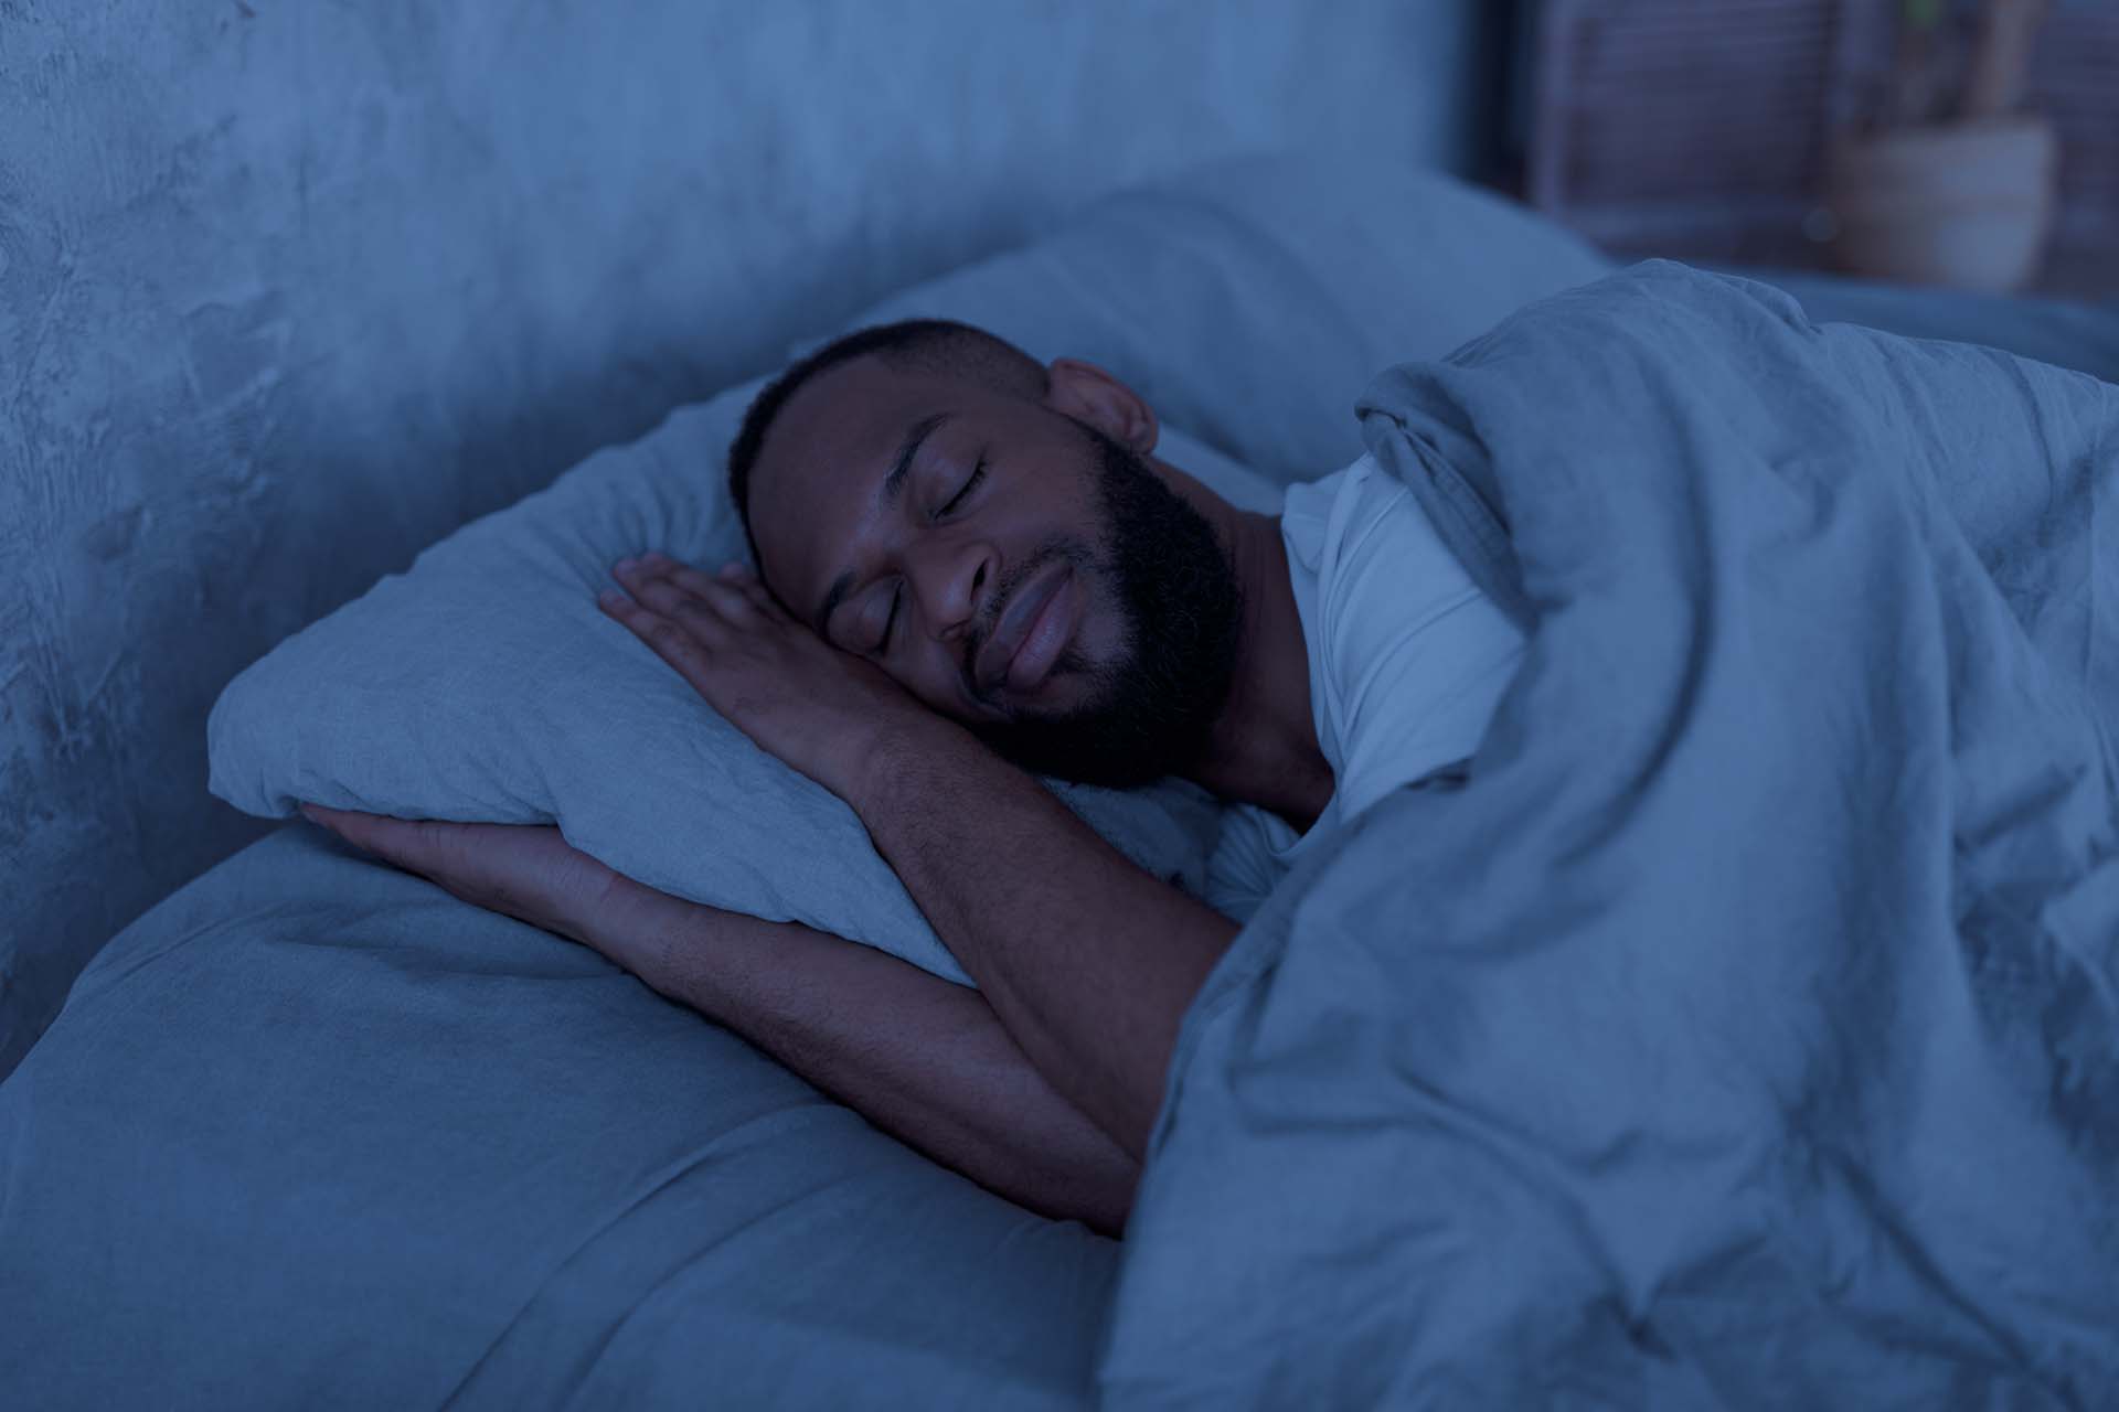
[{"label": "man's upper forearm below his chin, from wrist to blanket, without hand", "polygon": [[875,752],[848,802],[1030,1063],[1138,1160],[1237,925],[939,716]]}]

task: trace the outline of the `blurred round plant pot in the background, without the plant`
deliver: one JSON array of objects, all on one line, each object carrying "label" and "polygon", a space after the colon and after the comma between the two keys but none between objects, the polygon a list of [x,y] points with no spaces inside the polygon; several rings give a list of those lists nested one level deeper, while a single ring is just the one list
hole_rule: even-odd
[{"label": "blurred round plant pot in the background, without the plant", "polygon": [[2045,252],[2055,167],[2038,116],[1844,140],[1824,171],[1833,263],[1871,279],[2019,290]]}]

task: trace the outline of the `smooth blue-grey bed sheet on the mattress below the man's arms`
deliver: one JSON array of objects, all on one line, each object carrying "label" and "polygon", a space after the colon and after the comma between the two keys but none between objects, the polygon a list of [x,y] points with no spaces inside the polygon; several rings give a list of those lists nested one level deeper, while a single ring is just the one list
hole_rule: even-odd
[{"label": "smooth blue-grey bed sheet on the mattress below the man's arms", "polygon": [[307,823],[83,974],[0,1103],[0,1251],[38,1410],[1081,1406],[1115,1266]]}]

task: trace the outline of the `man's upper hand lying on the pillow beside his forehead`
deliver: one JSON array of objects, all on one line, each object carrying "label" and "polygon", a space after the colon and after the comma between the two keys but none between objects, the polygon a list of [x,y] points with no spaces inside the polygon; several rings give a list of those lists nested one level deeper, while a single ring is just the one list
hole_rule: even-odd
[{"label": "man's upper hand lying on the pillow beside his forehead", "polygon": [[670,663],[729,724],[839,798],[890,722],[928,718],[873,663],[797,622],[744,565],[704,574],[665,555],[621,559],[598,605]]}]

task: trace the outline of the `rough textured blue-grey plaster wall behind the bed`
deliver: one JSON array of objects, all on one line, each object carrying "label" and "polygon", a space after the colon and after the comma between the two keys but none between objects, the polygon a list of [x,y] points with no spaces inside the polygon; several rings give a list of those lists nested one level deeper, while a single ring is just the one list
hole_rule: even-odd
[{"label": "rough textured blue-grey plaster wall behind the bed", "polygon": [[1462,165],[1477,8],[0,0],[0,1073],[269,828],[203,726],[280,637],[1100,191]]}]

